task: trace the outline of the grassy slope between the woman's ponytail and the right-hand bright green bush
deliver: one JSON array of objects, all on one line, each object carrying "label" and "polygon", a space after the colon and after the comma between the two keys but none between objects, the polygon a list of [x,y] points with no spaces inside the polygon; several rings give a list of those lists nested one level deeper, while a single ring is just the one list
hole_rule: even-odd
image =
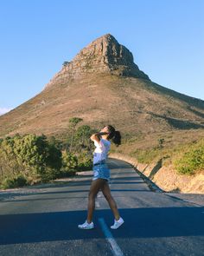
[{"label": "grassy slope between the woman's ponytail and the right-hand bright green bush", "polygon": [[[172,164],[194,142],[204,138],[203,129],[175,130],[151,135],[137,135],[124,139],[118,148],[112,146],[112,153],[121,153],[141,163],[152,163],[163,159],[163,165]],[[164,139],[162,147],[159,140]]]}]

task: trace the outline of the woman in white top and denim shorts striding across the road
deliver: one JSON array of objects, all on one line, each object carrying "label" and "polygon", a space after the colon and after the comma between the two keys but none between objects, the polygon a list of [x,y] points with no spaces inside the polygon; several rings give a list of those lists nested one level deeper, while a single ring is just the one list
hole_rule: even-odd
[{"label": "woman in white top and denim shorts striding across the road", "polygon": [[105,199],[108,201],[115,217],[114,224],[111,228],[117,229],[124,223],[124,220],[118,213],[117,204],[112,198],[110,187],[108,185],[108,181],[110,181],[110,169],[107,167],[105,161],[111,147],[111,139],[116,145],[120,144],[121,135],[111,125],[105,126],[105,128],[102,128],[99,133],[91,136],[91,140],[94,142],[96,147],[93,154],[93,178],[88,195],[87,218],[85,223],[78,225],[81,229],[92,229],[94,227],[92,214],[95,208],[95,198],[100,189],[104,194]]}]

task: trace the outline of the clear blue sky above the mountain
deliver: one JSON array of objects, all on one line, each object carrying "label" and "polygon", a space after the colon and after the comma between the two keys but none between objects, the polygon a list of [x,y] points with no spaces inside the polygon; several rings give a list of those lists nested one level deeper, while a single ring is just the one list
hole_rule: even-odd
[{"label": "clear blue sky above the mountain", "polygon": [[203,0],[1,0],[0,114],[111,33],[153,82],[204,100]]}]

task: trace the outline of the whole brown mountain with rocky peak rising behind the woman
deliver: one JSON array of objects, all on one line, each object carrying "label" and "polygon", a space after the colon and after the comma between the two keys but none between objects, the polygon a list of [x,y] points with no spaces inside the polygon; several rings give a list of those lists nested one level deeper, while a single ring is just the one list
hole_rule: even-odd
[{"label": "whole brown mountain with rocky peak rising behind the woman", "polygon": [[107,34],[64,62],[40,94],[0,116],[0,136],[66,134],[73,116],[130,134],[198,129],[204,128],[204,101],[151,82],[130,50]]}]

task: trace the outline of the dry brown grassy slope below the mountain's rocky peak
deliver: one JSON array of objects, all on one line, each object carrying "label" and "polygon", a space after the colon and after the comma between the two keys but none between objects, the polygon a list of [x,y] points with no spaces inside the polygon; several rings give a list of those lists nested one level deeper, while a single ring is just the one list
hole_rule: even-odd
[{"label": "dry brown grassy slope below the mountain's rocky peak", "polygon": [[[111,123],[126,137],[144,136],[151,145],[159,136],[173,136],[172,142],[165,137],[170,145],[180,141],[178,129],[178,134],[188,136],[190,129],[195,135],[204,128],[204,102],[143,79],[90,74],[74,81],[61,79],[1,116],[0,137],[66,134],[73,116],[97,129]],[[143,140],[137,142],[137,147],[147,147]]]}]

